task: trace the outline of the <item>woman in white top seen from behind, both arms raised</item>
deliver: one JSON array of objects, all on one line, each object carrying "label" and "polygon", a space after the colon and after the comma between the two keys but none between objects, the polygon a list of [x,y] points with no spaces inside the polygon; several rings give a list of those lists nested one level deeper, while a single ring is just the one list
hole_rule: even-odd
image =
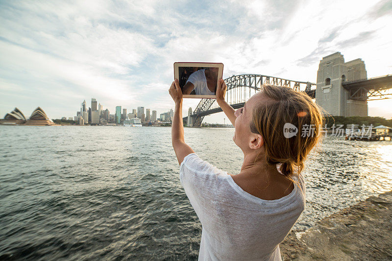
[{"label": "woman in white top seen from behind, both arms raised", "polygon": [[[244,153],[240,173],[231,175],[198,158],[184,142],[178,80],[169,92],[175,102],[172,145],[181,184],[202,224],[199,260],[281,260],[279,243],[305,208],[300,172],[319,140],[319,108],[304,93],[264,85],[234,111],[220,80],[217,102]],[[298,128],[297,135],[285,138],[285,123]],[[314,127],[314,135],[302,135],[302,126]]]}]

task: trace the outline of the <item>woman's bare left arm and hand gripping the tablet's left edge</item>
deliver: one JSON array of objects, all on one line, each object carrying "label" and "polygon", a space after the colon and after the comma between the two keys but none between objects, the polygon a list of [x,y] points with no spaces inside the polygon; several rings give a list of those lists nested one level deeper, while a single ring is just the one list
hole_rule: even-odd
[{"label": "woman's bare left arm and hand gripping the tablet's left edge", "polygon": [[195,153],[193,149],[185,143],[184,125],[182,123],[182,92],[178,80],[175,79],[170,86],[169,93],[174,100],[174,115],[172,121],[172,145],[178,164],[184,161],[185,156]]}]

